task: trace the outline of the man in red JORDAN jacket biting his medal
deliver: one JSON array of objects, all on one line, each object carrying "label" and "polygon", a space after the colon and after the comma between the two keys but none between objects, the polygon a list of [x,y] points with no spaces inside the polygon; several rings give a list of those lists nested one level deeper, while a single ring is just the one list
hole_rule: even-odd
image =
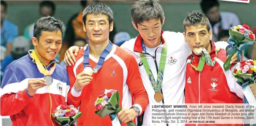
[{"label": "man in red JORDAN jacket biting his medal", "polygon": [[[192,55],[187,59],[186,65],[185,103],[242,103],[244,98],[242,88],[236,82],[237,79],[231,70],[224,71],[223,64],[227,60],[226,51],[216,50],[207,17],[202,15],[201,11],[193,11],[187,15],[183,25],[185,41],[189,43],[192,50]],[[194,48],[198,47],[204,47],[209,52],[212,61],[216,57],[214,66],[205,63],[202,71],[195,70],[194,67],[198,67],[202,54],[195,55]],[[232,124],[214,125],[233,126]],[[242,126],[242,124],[235,125]]]}]

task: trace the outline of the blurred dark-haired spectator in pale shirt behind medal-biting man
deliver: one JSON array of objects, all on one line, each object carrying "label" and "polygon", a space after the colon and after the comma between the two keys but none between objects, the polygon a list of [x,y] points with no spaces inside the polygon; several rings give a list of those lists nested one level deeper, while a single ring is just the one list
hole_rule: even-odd
[{"label": "blurred dark-haired spectator in pale shirt behind medal-biting man", "polygon": [[211,23],[212,39],[217,42],[217,35],[222,30],[229,30],[230,27],[241,25],[238,16],[232,12],[220,12],[218,0],[202,0],[200,3],[202,12],[208,17]]}]

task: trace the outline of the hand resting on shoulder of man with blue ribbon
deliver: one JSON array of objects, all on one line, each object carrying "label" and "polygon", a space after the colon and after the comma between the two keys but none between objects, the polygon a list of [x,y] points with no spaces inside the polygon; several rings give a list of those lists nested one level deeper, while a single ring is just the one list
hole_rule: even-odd
[{"label": "hand resting on shoulder of man with blue ribbon", "polygon": [[78,54],[78,51],[79,51],[79,47],[77,46],[72,46],[70,47],[66,52],[65,52],[65,55],[64,55],[64,62],[71,66],[74,65],[74,62],[76,63],[76,58],[74,57],[73,55],[73,52],[75,52],[75,55],[77,56]]}]

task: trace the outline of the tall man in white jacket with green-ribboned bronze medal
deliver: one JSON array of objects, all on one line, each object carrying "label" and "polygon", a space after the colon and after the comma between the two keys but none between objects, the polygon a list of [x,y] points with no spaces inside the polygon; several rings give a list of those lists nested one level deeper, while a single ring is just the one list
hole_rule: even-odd
[{"label": "tall man in white jacket with green-ribboned bronze medal", "polygon": [[[189,44],[185,42],[183,33],[161,30],[165,17],[158,0],[136,1],[131,8],[131,16],[132,24],[139,31],[139,35],[135,39],[122,44],[121,48],[135,57],[143,85],[149,96],[149,105],[145,113],[136,119],[136,124],[138,126],[184,126],[184,123],[153,123],[150,106],[155,104],[180,105],[184,103],[186,61],[192,54]],[[215,45],[225,49],[228,44],[227,42],[217,42]],[[78,50],[77,46],[70,47],[65,53],[64,62],[68,65],[76,62],[73,52],[76,55]],[[162,55],[162,50],[166,51],[166,57]],[[143,56],[145,56],[146,61],[143,60]],[[162,63],[160,59],[163,59]],[[236,55],[233,56],[231,63],[237,63]],[[146,71],[148,69],[145,69],[146,66],[149,66],[148,69],[151,71],[151,80],[154,79],[155,82],[160,80],[160,90],[153,88],[152,85],[155,84],[149,79],[150,75]]]}]

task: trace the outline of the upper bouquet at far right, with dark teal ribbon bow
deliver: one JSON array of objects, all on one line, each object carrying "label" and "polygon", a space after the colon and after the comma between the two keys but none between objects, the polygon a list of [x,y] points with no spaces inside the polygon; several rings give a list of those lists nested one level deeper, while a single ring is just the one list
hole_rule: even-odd
[{"label": "upper bouquet at far right, with dark teal ribbon bow", "polygon": [[227,71],[231,64],[231,58],[235,53],[237,53],[238,62],[241,61],[242,51],[245,49],[246,45],[255,44],[255,35],[252,33],[252,29],[246,25],[237,25],[229,29],[230,38],[227,40],[229,44],[226,47],[227,60],[223,64],[224,70]]}]

